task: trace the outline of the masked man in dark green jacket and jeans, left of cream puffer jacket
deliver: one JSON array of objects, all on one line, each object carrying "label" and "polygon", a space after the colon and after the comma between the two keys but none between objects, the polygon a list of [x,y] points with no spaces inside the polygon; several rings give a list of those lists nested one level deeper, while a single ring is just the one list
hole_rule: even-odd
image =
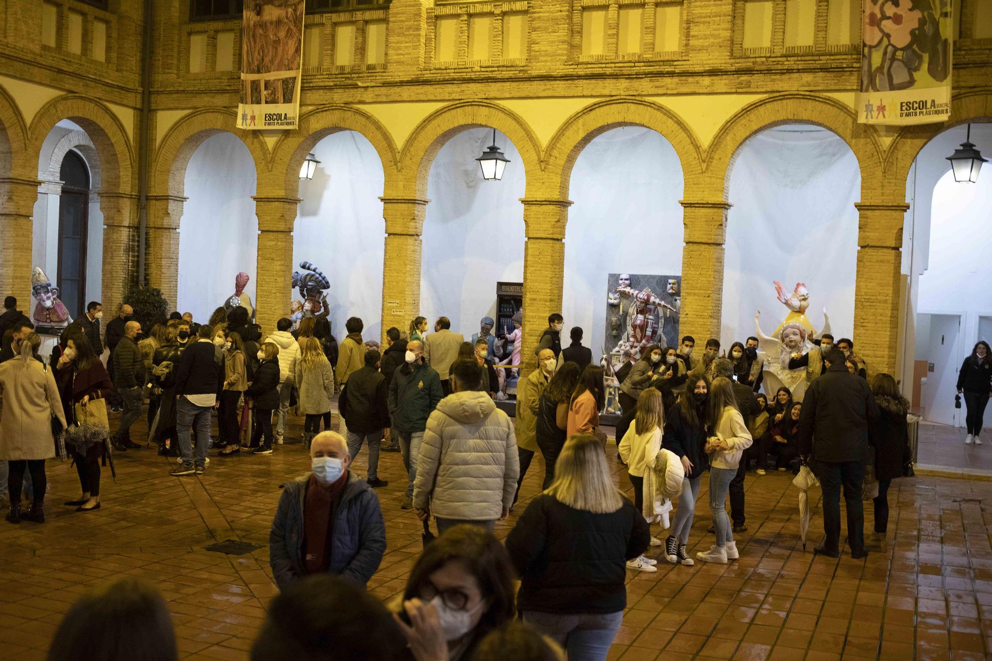
[{"label": "masked man in dark green jacket and jeans, left of cream puffer jacket", "polygon": [[444,393],[440,376],[424,359],[424,342],[412,339],[407,343],[406,362],[393,373],[389,383],[389,417],[393,434],[400,442],[403,465],[409,477],[402,509],[414,506],[414,479],[417,477],[417,457],[428,417]]}]

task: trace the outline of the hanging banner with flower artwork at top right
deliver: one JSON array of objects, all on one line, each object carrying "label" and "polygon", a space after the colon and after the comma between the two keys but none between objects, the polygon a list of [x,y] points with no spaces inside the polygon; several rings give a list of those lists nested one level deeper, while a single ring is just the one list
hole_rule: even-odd
[{"label": "hanging banner with flower artwork at top right", "polygon": [[862,0],[862,124],[930,124],[950,116],[951,0]]}]

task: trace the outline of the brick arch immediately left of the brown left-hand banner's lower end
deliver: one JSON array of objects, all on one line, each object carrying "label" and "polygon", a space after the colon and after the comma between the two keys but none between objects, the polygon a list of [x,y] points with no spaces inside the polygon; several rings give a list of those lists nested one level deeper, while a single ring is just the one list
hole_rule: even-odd
[{"label": "brick arch immediately left of the brown left-hand banner's lower end", "polygon": [[194,110],[169,127],[152,162],[150,193],[183,197],[189,159],[203,141],[223,131],[233,133],[245,144],[255,163],[257,181],[262,182],[267,172],[269,148],[257,131],[235,128],[236,120],[233,110],[210,108]]}]

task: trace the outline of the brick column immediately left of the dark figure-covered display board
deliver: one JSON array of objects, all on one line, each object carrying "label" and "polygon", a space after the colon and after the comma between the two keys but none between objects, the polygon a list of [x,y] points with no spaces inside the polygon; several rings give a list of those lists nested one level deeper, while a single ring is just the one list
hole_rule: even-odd
[{"label": "brick column immediately left of the dark figure-covered display board", "polygon": [[522,376],[538,365],[534,348],[548,328],[548,316],[561,312],[564,283],[564,227],[568,199],[523,198],[527,242],[524,244],[524,337]]}]

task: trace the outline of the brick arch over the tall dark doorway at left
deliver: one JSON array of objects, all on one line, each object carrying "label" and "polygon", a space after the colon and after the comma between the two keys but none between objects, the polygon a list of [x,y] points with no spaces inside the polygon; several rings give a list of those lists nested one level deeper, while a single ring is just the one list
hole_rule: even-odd
[{"label": "brick arch over the tall dark doorway at left", "polygon": [[134,151],[120,119],[107,106],[81,94],[52,99],[35,115],[29,131],[32,162],[38,163],[49,133],[62,119],[71,120],[86,132],[99,163],[102,190],[133,193],[138,183],[133,175]]}]

